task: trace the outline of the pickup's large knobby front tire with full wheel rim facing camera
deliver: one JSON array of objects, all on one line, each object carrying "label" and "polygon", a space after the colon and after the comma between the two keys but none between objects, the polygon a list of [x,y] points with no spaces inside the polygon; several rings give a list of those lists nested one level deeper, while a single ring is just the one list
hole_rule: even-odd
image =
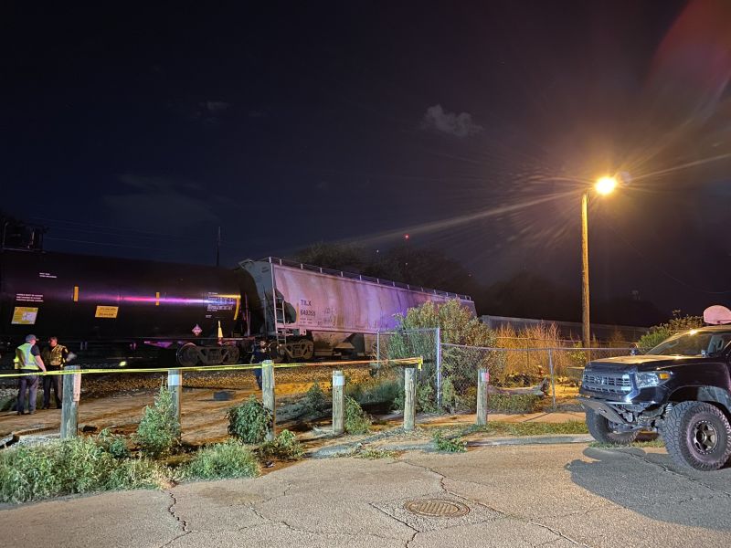
[{"label": "pickup's large knobby front tire with full wheel rim facing camera", "polygon": [[670,457],[692,469],[717,470],[731,457],[731,425],[718,407],[705,402],[674,406],[662,439]]}]

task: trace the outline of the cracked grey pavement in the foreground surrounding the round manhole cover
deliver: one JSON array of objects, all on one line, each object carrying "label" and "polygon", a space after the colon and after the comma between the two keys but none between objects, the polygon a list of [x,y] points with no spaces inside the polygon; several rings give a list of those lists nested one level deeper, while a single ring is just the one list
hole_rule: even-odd
[{"label": "cracked grey pavement in the foreground surrounding the round manhole cover", "polygon": [[[471,511],[404,509],[423,498]],[[5,506],[0,532],[4,545],[60,548],[726,546],[731,469],[678,469],[662,448],[577,444],[312,459],[257,479]]]}]

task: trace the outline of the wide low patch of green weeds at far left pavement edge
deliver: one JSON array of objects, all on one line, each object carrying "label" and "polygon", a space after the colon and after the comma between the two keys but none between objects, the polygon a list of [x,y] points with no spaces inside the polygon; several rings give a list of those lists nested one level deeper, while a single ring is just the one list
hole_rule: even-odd
[{"label": "wide low patch of green weeds at far left pavement edge", "polygon": [[26,502],[72,493],[159,488],[169,470],[146,458],[113,458],[95,439],[74,437],[0,452],[0,501]]}]

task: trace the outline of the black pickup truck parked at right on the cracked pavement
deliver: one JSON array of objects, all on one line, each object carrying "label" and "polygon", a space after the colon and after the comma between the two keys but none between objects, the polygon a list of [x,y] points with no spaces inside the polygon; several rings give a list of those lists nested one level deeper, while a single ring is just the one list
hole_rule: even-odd
[{"label": "black pickup truck parked at right on the cracked pavement", "polygon": [[591,361],[579,400],[601,442],[658,432],[681,465],[731,465],[731,325],[678,333],[646,354]]}]

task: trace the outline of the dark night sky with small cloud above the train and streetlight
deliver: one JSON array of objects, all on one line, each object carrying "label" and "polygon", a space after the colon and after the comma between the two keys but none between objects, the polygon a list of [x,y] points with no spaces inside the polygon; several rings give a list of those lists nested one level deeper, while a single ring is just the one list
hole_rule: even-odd
[{"label": "dark night sky with small cloud above the train and streetlight", "polygon": [[[731,5],[5,4],[2,208],[47,248],[211,263],[445,250],[664,310],[731,304]],[[453,289],[453,288],[444,288]]]}]

